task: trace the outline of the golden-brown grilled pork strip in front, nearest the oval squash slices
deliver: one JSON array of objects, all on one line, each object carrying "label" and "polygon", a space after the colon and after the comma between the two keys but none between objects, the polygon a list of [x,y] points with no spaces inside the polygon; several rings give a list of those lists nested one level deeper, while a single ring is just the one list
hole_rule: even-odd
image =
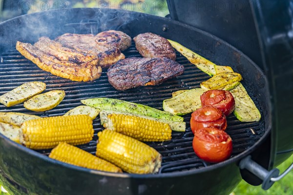
[{"label": "golden-brown grilled pork strip in front, nearest the oval squash slices", "polygon": [[45,54],[30,43],[22,43],[20,41],[17,41],[16,49],[25,58],[37,64],[42,70],[62,78],[69,78],[74,81],[89,81],[100,78],[102,74],[102,68],[96,65],[98,59],[82,64],[60,61],[54,56]]}]

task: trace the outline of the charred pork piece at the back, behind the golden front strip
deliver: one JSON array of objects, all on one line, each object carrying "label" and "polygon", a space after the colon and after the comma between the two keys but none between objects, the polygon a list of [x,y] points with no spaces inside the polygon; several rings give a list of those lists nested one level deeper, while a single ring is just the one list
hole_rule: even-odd
[{"label": "charred pork piece at the back, behind the golden front strip", "polygon": [[100,59],[102,68],[108,68],[119,59],[125,59],[121,50],[127,49],[131,44],[131,39],[128,35],[121,31],[113,30],[101,32],[96,36],[66,33],[57,37],[55,41],[60,42],[63,47],[76,50],[85,55],[96,55]]}]

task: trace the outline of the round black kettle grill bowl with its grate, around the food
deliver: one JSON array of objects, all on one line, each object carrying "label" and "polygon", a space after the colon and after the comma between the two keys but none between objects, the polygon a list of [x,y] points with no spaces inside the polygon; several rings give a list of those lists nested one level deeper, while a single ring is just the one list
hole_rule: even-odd
[{"label": "round black kettle grill bowl with its grate, around the food", "polygon": [[[41,36],[54,39],[64,33],[97,34],[109,29],[121,30],[132,38],[140,33],[156,33],[178,41],[216,64],[231,66],[243,76],[242,83],[262,114],[261,121],[251,123],[241,123],[234,116],[227,118],[227,133],[233,140],[233,153],[230,159],[218,164],[206,163],[194,154],[190,115],[186,115],[186,132],[173,132],[171,141],[147,143],[163,155],[163,163],[159,174],[143,176],[105,173],[64,164],[48,158],[46,155],[50,150],[32,151],[0,135],[0,179],[11,191],[37,194],[213,194],[221,189],[228,194],[241,180],[237,162],[255,150],[269,134],[270,101],[265,76],[240,51],[206,32],[146,14],[88,8],[35,13],[0,25],[3,29],[0,31],[0,95],[24,82],[36,80],[46,83],[46,91],[65,90],[62,103],[53,110],[38,113],[39,116],[63,115],[82,105],[81,99],[96,97],[118,98],[162,109],[163,100],[170,98],[172,92],[199,87],[200,82],[209,78],[177,53],[177,61],[185,67],[183,75],[159,86],[119,92],[107,81],[105,70],[95,81],[74,82],[42,71],[15,50],[16,40],[35,42]],[[163,31],[166,27],[167,31]],[[123,53],[126,57],[140,57],[133,43]],[[1,112],[36,114],[24,109],[22,104],[10,108],[0,105],[0,109]],[[95,153],[97,132],[103,130],[99,117],[93,124],[93,141],[79,146],[92,154]]]}]

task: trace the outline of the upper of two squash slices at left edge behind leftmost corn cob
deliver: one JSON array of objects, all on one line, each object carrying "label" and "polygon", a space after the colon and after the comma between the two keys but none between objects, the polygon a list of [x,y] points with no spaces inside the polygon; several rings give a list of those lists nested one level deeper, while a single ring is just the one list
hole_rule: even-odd
[{"label": "upper of two squash slices at left edge behind leftmost corn cob", "polygon": [[21,124],[26,120],[41,118],[36,115],[27,115],[23,113],[14,113],[14,112],[0,112],[0,122],[9,123],[18,127],[21,127]]}]

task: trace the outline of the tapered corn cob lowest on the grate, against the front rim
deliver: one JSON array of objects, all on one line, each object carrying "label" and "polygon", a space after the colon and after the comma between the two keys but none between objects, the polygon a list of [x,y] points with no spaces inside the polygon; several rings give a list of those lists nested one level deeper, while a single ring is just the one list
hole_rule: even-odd
[{"label": "tapered corn cob lowest on the grate, against the front rim", "polygon": [[122,170],[112,163],[97,156],[93,156],[92,154],[65,142],[58,144],[58,146],[51,151],[49,157],[88,169],[122,173]]}]

